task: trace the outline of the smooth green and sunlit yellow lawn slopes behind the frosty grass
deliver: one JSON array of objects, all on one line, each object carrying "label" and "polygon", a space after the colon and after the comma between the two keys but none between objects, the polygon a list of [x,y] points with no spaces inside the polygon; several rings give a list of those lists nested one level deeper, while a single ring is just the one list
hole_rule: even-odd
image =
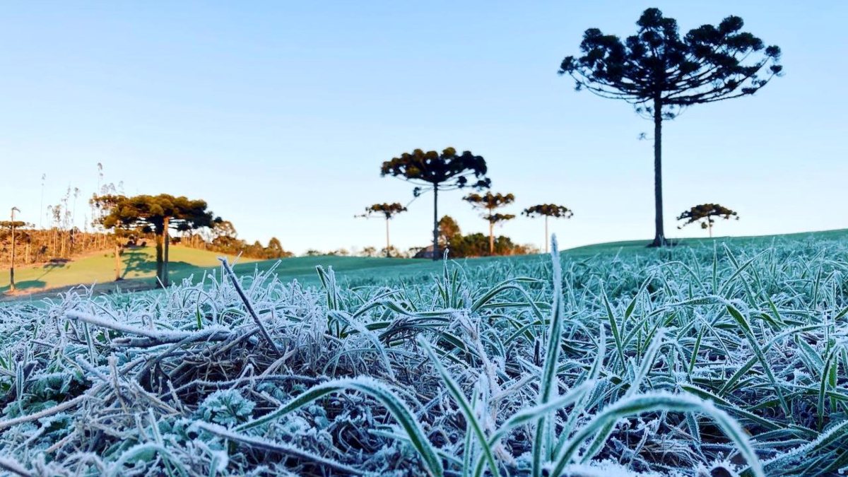
[{"label": "smooth green and sunlit yellow lawn slopes behind the frosty grass", "polygon": [[[793,233],[785,235],[766,235],[758,237],[735,237],[717,239],[681,239],[680,245],[695,245],[710,243],[713,240],[733,244],[762,245],[771,244],[776,239],[797,239],[810,237],[811,239],[848,239],[848,229],[830,230],[825,232]],[[593,244],[566,250],[566,254],[573,258],[589,257],[605,254],[639,254],[648,253],[645,248],[650,240],[629,240],[624,242],[611,242],[606,244]],[[204,271],[210,272],[218,269],[220,254],[206,250],[187,249],[183,247],[172,247],[170,249],[170,279],[180,281],[184,278],[200,278]],[[231,262],[234,257],[227,257]],[[546,260],[544,255],[522,255],[515,257],[483,257],[473,259],[460,259],[465,267],[477,267],[492,261],[510,261],[517,265],[526,261]],[[132,285],[155,284],[155,250],[152,247],[127,251],[123,257],[123,278],[126,282],[123,286],[131,288]],[[253,274],[255,269],[264,272],[273,267],[276,260],[255,261],[241,258],[233,267],[237,274]],[[441,265],[427,260],[415,259],[387,259],[387,258],[365,258],[345,256],[306,256],[294,257],[282,261],[276,268],[276,273],[282,281],[298,280],[300,283],[317,284],[318,278],[315,267],[332,267],[339,273],[341,279],[354,284],[382,283],[395,281],[399,278],[404,280],[421,281],[426,280],[434,272],[441,270]],[[15,282],[18,289],[23,291],[36,291],[42,289],[56,289],[76,284],[111,283],[114,280],[114,259],[112,254],[104,252],[98,255],[87,256],[76,261],[64,264],[46,265],[38,267],[23,267],[15,270]],[[8,291],[8,273],[0,274],[0,293]]]}]

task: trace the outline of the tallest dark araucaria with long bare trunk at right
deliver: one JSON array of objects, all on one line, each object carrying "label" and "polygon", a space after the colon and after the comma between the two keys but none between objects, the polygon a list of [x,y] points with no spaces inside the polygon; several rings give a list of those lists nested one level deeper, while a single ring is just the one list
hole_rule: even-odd
[{"label": "tallest dark araucaria with long bare trunk at right", "polygon": [[654,205],[652,245],[667,244],[662,225],[662,121],[693,104],[714,103],[757,92],[782,66],[780,48],[766,47],[742,30],[742,19],[728,16],[718,25],[701,25],[681,37],[678,23],[648,8],[636,35],[622,42],[597,28],[583,34],[583,56],[562,60],[560,74],[572,76],[577,90],[622,99],[654,121]]}]

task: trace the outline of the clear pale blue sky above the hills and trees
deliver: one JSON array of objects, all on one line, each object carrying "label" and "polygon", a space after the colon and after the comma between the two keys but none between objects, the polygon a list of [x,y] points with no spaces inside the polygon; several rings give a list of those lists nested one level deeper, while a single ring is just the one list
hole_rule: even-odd
[{"label": "clear pale blue sky above the hills and trees", "polygon": [[[207,199],[244,239],[288,250],[382,246],[354,219],[412,187],[379,177],[410,149],[470,149],[494,192],[575,210],[566,246],[653,235],[650,122],[556,75],[583,30],[626,36],[657,6],[683,31],[728,14],[784,52],[753,98],[687,110],[664,130],[667,235],[690,205],[739,210],[717,234],[848,227],[848,3],[29,2],[0,7],[0,210],[38,222],[67,187],[77,222],[97,184]],[[444,194],[463,231],[486,223]],[[3,216],[6,212],[0,212]],[[426,244],[432,200],[393,221]],[[542,243],[541,221],[499,233]]]}]

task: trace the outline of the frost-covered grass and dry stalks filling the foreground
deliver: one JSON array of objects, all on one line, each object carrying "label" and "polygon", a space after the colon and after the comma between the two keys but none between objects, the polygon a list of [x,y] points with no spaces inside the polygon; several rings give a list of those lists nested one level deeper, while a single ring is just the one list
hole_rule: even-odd
[{"label": "frost-covered grass and dry stalks filling the foreground", "polygon": [[387,285],[222,271],[3,306],[0,470],[835,474],[846,257],[784,239]]}]

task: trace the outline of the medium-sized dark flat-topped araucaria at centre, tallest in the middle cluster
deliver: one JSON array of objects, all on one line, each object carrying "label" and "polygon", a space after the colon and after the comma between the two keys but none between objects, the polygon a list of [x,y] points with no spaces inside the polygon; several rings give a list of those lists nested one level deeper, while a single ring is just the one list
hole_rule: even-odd
[{"label": "medium-sized dark flat-topped araucaria at centre, tallest in the middle cluster", "polygon": [[489,188],[491,180],[486,177],[486,160],[482,156],[465,151],[456,154],[456,149],[424,152],[416,149],[412,153],[400,154],[387,160],[380,167],[380,175],[393,176],[416,184],[413,194],[418,197],[432,190],[432,259],[438,253],[438,192],[457,188]]}]

